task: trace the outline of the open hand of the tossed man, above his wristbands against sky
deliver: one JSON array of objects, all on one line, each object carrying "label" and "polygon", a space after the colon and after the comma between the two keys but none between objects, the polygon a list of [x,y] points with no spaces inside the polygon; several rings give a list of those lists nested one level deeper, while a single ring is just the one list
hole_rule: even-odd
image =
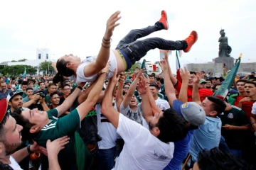
[{"label": "open hand of the tossed man, above his wristbands against sky", "polygon": [[107,28],[106,28],[106,32],[104,35],[105,40],[110,40],[110,38],[113,35],[114,28],[119,26],[120,23],[116,23],[116,22],[119,21],[119,19],[121,18],[121,16],[118,16],[120,13],[121,13],[120,11],[116,11],[107,20]]}]

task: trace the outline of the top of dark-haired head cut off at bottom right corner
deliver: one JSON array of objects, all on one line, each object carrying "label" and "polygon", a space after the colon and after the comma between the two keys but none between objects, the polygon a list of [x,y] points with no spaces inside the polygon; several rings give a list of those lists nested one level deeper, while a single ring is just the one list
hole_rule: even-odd
[{"label": "top of dark-haired head cut off at bottom right corner", "polygon": [[228,152],[223,152],[218,147],[199,152],[197,164],[201,170],[254,169],[244,159]]}]

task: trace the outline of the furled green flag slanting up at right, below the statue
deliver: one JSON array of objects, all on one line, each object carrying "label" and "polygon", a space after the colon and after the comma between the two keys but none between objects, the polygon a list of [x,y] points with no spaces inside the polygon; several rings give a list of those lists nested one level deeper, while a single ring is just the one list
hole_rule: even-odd
[{"label": "furled green flag slanting up at right, below the statue", "polygon": [[226,77],[223,84],[221,84],[220,89],[215,91],[213,96],[220,95],[220,96],[223,96],[223,98],[225,98],[228,95],[228,91],[233,84],[235,75],[238,72],[238,68],[239,68],[240,62],[241,62],[241,57],[242,57],[242,54],[240,54],[240,57],[238,58],[238,60],[235,61],[235,66],[231,69],[230,73]]}]

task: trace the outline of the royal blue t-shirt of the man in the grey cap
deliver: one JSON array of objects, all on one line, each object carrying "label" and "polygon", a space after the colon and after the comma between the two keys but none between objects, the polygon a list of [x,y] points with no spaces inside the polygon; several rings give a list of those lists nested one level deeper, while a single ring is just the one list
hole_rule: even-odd
[{"label": "royal blue t-shirt of the man in the grey cap", "polygon": [[[181,106],[183,105],[183,102],[175,100],[173,103],[173,109],[178,112],[179,115],[183,118],[183,115],[181,114]],[[193,113],[191,113],[193,114]],[[193,135],[194,130],[189,130],[188,135],[183,140],[180,140],[178,142],[174,142],[174,157],[171,159],[171,162],[164,168],[164,170],[167,169],[181,169],[181,164],[184,159],[186,159],[186,156],[188,155],[188,151],[191,147],[191,137]]]}]

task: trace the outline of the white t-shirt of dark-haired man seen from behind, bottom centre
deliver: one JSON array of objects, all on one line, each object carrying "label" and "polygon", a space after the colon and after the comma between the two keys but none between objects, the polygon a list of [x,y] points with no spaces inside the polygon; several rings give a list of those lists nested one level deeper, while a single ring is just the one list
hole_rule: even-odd
[{"label": "white t-shirt of dark-haired man seen from behind, bottom centre", "polygon": [[117,132],[124,140],[124,148],[114,169],[162,170],[173,158],[173,142],[161,142],[149,130],[122,114],[119,114]]}]

